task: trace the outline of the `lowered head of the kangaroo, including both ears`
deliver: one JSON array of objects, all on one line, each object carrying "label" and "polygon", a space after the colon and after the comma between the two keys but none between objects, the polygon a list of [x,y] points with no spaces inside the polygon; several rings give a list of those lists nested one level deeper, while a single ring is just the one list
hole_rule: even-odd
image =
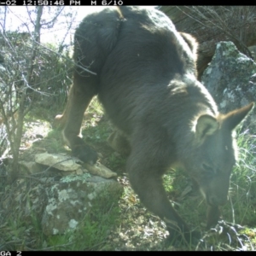
[{"label": "lowered head of the kangaroo, including both ears", "polygon": [[198,183],[208,205],[223,205],[230,187],[230,174],[236,164],[233,131],[253,108],[253,103],[217,117],[204,114],[195,125],[195,148],[186,157],[185,167]]}]

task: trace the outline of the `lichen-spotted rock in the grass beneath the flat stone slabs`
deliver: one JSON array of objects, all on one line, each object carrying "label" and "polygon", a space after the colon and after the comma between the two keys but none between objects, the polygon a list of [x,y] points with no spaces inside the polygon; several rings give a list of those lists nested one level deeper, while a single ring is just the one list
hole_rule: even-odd
[{"label": "lichen-spotted rock in the grass beneath the flat stone slabs", "polygon": [[92,177],[88,173],[62,177],[47,193],[48,203],[42,218],[44,235],[64,234],[67,230],[76,229],[90,207],[114,201],[114,198],[117,200],[122,191],[123,187],[118,182]]}]

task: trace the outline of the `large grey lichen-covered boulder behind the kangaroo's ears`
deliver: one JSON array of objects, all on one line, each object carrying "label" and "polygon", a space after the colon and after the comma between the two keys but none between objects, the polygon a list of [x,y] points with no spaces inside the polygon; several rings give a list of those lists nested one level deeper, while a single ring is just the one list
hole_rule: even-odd
[{"label": "large grey lichen-covered boulder behind the kangaroo's ears", "polygon": [[[219,42],[201,82],[210,91],[218,108],[227,113],[256,99],[256,63],[241,54],[232,42]],[[256,111],[247,118],[256,126]]]}]

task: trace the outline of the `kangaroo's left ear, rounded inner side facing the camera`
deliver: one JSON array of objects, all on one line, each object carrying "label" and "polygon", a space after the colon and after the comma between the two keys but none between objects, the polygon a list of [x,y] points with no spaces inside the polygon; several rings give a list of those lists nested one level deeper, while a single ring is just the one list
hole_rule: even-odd
[{"label": "kangaroo's left ear, rounded inner side facing the camera", "polygon": [[203,139],[206,136],[212,135],[217,130],[217,119],[213,118],[211,115],[203,114],[197,119],[195,134],[198,138]]}]

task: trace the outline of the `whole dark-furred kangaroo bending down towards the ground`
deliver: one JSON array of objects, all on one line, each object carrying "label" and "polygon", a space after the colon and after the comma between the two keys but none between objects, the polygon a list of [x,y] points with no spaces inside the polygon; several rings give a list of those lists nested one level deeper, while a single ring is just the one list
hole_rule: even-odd
[{"label": "whole dark-furred kangaroo bending down towards the ground", "polygon": [[[109,119],[129,143],[126,170],[149,211],[166,222],[170,237],[195,233],[167,198],[162,176],[180,164],[201,189],[207,225],[217,224],[236,163],[233,131],[253,102],[218,113],[197,80],[195,38],[177,32],[157,9],[122,6],[87,15],[74,37],[73,85],[67,108],[55,121],[73,154],[94,164],[96,152],[79,137],[84,111],[98,96]],[[88,73],[82,67],[87,68]]]}]

